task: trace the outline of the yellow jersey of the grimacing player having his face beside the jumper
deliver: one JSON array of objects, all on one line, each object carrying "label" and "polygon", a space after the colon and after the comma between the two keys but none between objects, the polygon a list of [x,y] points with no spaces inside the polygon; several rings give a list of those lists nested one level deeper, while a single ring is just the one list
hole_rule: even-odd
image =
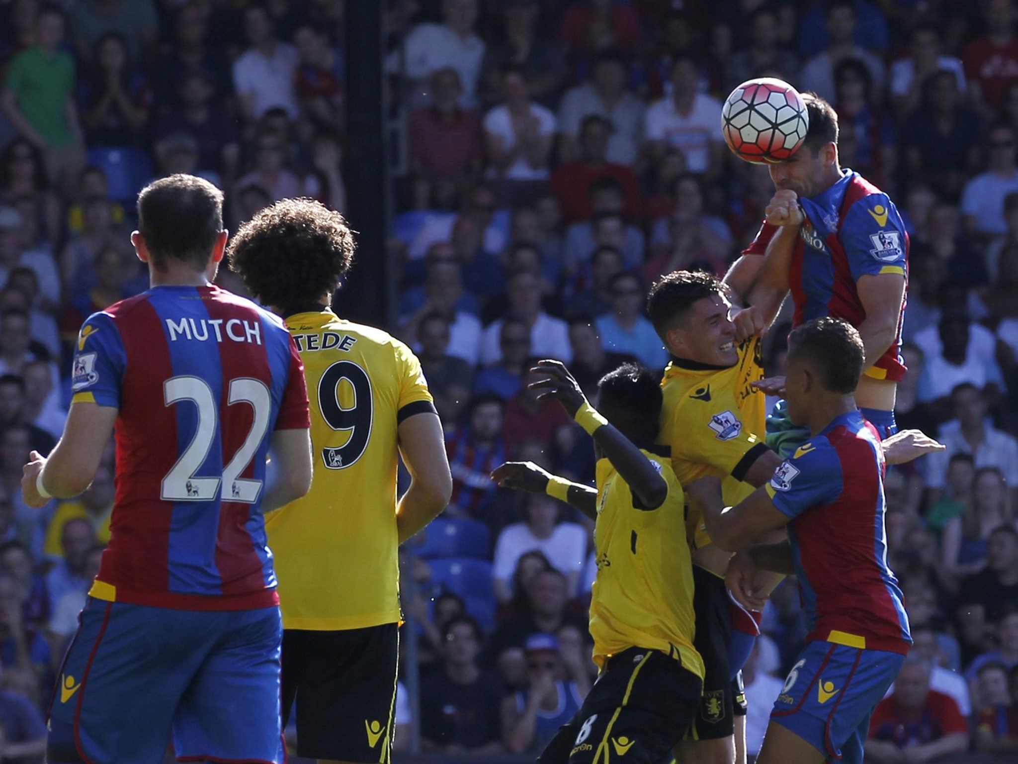
[{"label": "yellow jersey of the grimacing player having his face beside the jumper", "polygon": [[[673,359],[661,382],[665,401],[658,439],[671,448],[679,482],[687,486],[704,475],[723,478],[729,506],[753,492],[742,478],[767,448],[767,397],[749,386],[764,379],[761,340],[744,340],[738,350],[738,363],[727,369]],[[699,512],[689,515],[687,530],[694,529],[695,546],[710,544]]]}]

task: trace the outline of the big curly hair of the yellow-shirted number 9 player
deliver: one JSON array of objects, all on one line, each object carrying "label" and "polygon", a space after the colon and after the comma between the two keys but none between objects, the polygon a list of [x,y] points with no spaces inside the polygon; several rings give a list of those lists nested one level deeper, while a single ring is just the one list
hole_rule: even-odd
[{"label": "big curly hair of the yellow-shirted number 9 player", "polygon": [[291,315],[339,288],[355,249],[341,214],[310,199],[284,199],[241,225],[228,253],[251,294]]}]

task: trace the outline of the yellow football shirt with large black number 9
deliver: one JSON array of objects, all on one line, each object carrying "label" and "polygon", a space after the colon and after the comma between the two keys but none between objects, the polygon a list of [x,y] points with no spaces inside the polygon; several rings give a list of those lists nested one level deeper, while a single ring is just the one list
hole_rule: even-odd
[{"label": "yellow football shirt with large black number 9", "polygon": [[286,325],[304,362],[315,477],[266,522],[283,626],[398,621],[397,427],[435,411],[420,364],[386,332],[331,311]]}]

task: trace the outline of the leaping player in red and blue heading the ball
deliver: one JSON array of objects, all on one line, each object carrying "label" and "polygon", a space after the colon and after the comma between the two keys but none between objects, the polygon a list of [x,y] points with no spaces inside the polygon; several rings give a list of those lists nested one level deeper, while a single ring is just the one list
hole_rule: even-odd
[{"label": "leaping player in red and blue heading the ball", "polygon": [[841,167],[831,105],[812,93],[802,100],[806,138],[788,160],[770,165],[777,192],[767,219],[726,276],[751,306],[737,318],[737,336],[765,331],[789,289],[793,326],[825,316],[848,321],[865,347],[856,400],[886,437],[897,430],[895,390],[905,373],[898,351],[908,234],[888,196]]}]

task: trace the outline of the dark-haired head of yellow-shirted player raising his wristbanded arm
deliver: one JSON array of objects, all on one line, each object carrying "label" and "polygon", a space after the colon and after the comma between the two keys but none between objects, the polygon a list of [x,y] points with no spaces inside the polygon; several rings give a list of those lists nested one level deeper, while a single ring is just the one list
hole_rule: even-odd
[{"label": "dark-haired head of yellow-shirted player raising his wristbanded arm", "polygon": [[598,407],[630,440],[654,442],[664,397],[659,378],[641,364],[623,364],[598,382]]}]

